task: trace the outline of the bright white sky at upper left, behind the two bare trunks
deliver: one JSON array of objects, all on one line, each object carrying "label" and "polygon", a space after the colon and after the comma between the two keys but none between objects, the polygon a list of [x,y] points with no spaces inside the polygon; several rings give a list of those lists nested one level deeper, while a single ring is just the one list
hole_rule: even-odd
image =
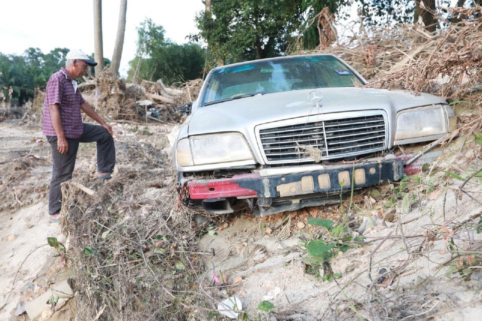
[{"label": "bright white sky at upper left, behind the two bare trunks", "polygon": [[[22,55],[28,48],[47,54],[55,48],[94,52],[92,0],[0,0],[0,53]],[[187,43],[198,32],[194,17],[204,10],[201,0],[128,0],[121,76],[136,55],[137,30],[146,18],[165,30],[165,38]],[[119,0],[102,0],[104,57],[111,59],[117,34]]]}]

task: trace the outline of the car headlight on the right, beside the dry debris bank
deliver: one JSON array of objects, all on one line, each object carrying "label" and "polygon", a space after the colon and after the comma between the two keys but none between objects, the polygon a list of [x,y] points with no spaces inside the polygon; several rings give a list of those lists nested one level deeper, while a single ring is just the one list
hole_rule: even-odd
[{"label": "car headlight on the right, beside the dry debris bank", "polygon": [[455,127],[455,115],[448,106],[411,109],[398,113],[395,140],[445,134]]}]

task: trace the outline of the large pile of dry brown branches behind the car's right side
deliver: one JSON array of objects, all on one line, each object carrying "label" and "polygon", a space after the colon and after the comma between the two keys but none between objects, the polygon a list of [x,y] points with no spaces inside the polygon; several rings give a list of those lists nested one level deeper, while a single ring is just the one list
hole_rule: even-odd
[{"label": "large pile of dry brown branches behind the car's right side", "polygon": [[480,93],[482,7],[450,10],[464,19],[435,34],[400,25],[353,36],[347,43],[321,52],[342,57],[372,80],[370,87],[428,92],[449,101]]}]

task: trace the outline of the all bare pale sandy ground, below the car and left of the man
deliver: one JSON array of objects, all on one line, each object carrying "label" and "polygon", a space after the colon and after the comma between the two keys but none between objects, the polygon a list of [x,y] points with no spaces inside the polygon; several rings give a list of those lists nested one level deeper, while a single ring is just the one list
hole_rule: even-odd
[{"label": "all bare pale sandy ground, below the car and left of the man", "polygon": [[[156,146],[162,148],[168,130],[150,130],[164,141]],[[139,142],[129,131],[122,130],[122,125],[114,127],[114,132],[117,141]],[[15,316],[22,303],[68,276],[56,251],[47,245],[47,237],[65,241],[65,236],[57,224],[48,223],[49,146],[38,139],[45,139],[38,126],[0,124],[0,162],[30,154],[38,164],[28,176],[12,183],[2,182],[0,193],[10,193],[13,201],[0,212],[0,306],[5,304],[0,310],[1,320],[28,319],[25,314]],[[453,150],[460,150],[461,146],[453,144]],[[77,164],[88,170],[92,162],[89,153],[80,153]],[[461,161],[447,151],[440,162]],[[476,162],[471,165],[480,167],[480,159]],[[220,226],[214,227],[216,232],[205,234],[198,245],[199,252],[210,253],[203,255],[206,281],[211,282],[215,274],[222,283],[212,286],[210,295],[217,300],[239,298],[250,319],[269,319],[270,315],[299,320],[376,319],[375,313],[394,319],[479,319],[482,267],[480,262],[470,261],[467,251],[482,251],[482,234],[475,233],[474,220],[460,226],[458,223],[480,213],[482,207],[466,194],[457,194],[459,181],[442,179],[440,174],[429,180],[433,189],[427,192],[420,184],[418,201],[412,204],[411,211],[401,214],[398,207],[392,222],[377,219],[385,212],[386,198],[372,201],[371,197],[359,197],[362,201],[353,207],[358,223],[373,217],[377,224],[363,233],[366,245],[339,253],[330,261],[331,270],[341,274],[335,281],[323,281],[324,269],[318,276],[306,273],[303,259],[307,251],[303,244],[326,237],[322,228],[307,224],[308,217],[337,220],[338,206],[266,218],[246,214],[222,217]],[[466,189],[480,199],[480,185],[469,183]],[[456,271],[450,272],[457,263],[467,262],[472,265],[465,279]],[[271,314],[258,309],[264,300],[274,304]]]}]

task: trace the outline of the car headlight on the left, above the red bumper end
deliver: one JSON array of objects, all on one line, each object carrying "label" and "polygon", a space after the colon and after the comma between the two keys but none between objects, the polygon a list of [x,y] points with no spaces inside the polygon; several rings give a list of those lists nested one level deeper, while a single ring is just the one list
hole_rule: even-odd
[{"label": "car headlight on the left, above the red bumper end", "polygon": [[[188,147],[189,157],[185,152]],[[176,159],[179,166],[197,166],[249,161],[253,154],[243,135],[227,133],[181,139],[177,144]]]}]

